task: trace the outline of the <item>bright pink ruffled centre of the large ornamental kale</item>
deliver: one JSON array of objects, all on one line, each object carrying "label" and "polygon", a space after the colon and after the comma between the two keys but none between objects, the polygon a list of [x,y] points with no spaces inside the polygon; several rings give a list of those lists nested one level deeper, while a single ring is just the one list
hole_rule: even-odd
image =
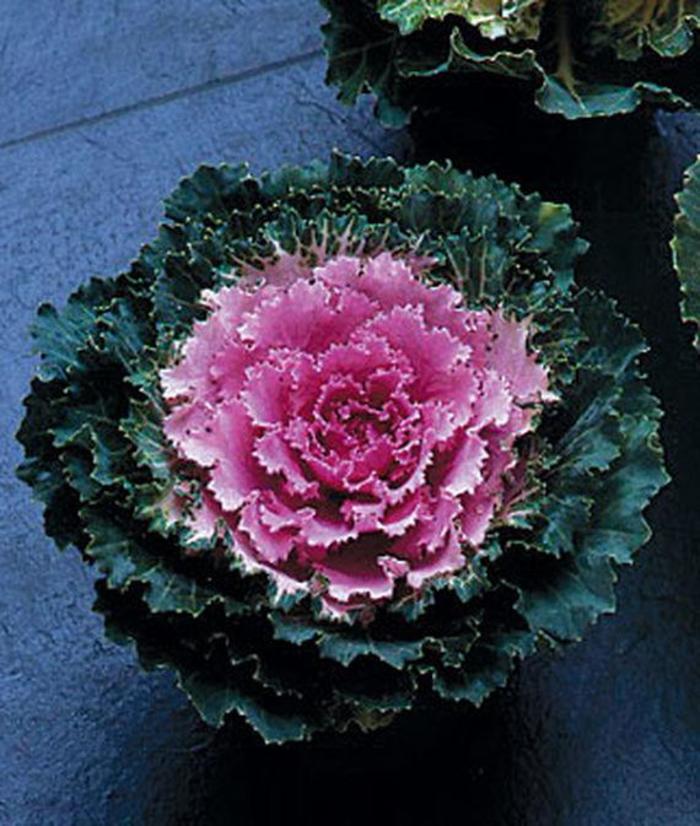
[{"label": "bright pink ruffled centre of the large ornamental kale", "polygon": [[469,565],[525,495],[548,375],[530,322],[470,310],[429,262],[337,257],[208,314],[160,373],[169,517],[278,592],[346,615]]}]

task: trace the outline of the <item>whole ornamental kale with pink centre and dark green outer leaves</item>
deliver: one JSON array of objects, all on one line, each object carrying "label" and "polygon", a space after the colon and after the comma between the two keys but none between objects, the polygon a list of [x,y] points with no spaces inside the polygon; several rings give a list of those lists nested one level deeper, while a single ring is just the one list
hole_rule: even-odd
[{"label": "whole ornamental kale with pink centre and dark green outer leaves", "polygon": [[660,411],[566,207],[336,154],[202,167],[166,214],[40,308],[19,432],[145,667],[285,741],[478,705],[613,611]]}]

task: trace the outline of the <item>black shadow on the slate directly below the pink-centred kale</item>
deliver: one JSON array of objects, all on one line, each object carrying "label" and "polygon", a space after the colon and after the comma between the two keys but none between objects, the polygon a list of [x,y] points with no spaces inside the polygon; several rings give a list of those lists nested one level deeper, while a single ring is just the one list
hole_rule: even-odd
[{"label": "black shadow on the slate directly below the pink-centred kale", "polygon": [[[242,723],[188,760],[189,793],[177,824],[381,822],[387,826],[515,822],[507,695],[480,712],[463,707],[406,716],[384,731],[264,746]],[[468,813],[468,816],[467,816]]]}]

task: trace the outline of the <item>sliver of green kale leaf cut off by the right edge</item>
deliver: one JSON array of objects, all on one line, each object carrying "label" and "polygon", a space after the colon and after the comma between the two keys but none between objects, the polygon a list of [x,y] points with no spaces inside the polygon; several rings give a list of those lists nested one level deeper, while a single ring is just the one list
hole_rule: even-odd
[{"label": "sliver of green kale leaf cut off by the right edge", "polygon": [[[686,171],[676,202],[679,212],[671,247],[681,285],[681,315],[700,328],[700,158]],[[700,332],[694,344],[700,350]]]}]

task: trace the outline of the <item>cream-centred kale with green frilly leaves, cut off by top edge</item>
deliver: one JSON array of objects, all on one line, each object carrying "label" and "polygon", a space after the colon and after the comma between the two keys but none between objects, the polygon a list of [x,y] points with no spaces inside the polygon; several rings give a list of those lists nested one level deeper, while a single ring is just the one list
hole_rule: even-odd
[{"label": "cream-centred kale with green frilly leaves, cut off by top edge", "polygon": [[697,0],[322,3],[327,82],[349,104],[371,91],[387,126],[432,105],[440,87],[468,109],[518,85],[569,119],[698,103]]}]

